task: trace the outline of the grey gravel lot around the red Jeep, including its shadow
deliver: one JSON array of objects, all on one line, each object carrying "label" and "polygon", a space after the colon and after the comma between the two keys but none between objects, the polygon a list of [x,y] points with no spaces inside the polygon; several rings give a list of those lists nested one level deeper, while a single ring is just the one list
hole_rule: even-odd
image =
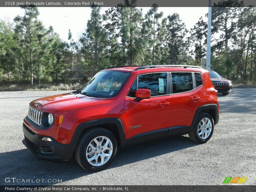
[{"label": "grey gravel lot around the red Jeep, including its shadow", "polygon": [[185,135],[126,147],[107,170],[97,173],[84,171],[75,160],[38,160],[21,142],[28,103],[65,92],[0,92],[1,185],[13,184],[5,183],[6,177],[45,179],[32,183],[44,185],[54,184],[48,179],[61,179],[63,185],[222,185],[227,176],[245,176],[245,184],[256,185],[256,88],[219,96],[220,121],[206,144]]}]

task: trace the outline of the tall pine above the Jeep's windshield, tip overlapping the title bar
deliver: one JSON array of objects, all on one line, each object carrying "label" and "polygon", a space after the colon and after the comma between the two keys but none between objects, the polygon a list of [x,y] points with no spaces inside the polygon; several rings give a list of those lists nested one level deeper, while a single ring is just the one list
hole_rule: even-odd
[{"label": "tall pine above the Jeep's windshield, tip overlapping the title bar", "polygon": [[147,39],[142,37],[142,9],[136,8],[136,0],[125,0],[124,4],[110,8],[106,11],[107,18],[111,21],[104,27],[111,36],[112,42],[121,43],[117,45],[122,50],[116,56],[123,65],[143,64],[143,55],[147,46]]}]

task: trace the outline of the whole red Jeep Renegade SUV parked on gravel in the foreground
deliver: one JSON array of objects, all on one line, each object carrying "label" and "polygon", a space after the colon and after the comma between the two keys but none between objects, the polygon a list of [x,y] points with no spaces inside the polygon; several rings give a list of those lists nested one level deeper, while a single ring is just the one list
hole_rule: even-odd
[{"label": "whole red Jeep Renegade SUV parked on gravel in the foreground", "polygon": [[34,100],[23,143],[37,158],[88,171],[108,167],[117,148],[171,135],[207,142],[219,121],[209,71],[196,66],[116,66],[76,92]]}]

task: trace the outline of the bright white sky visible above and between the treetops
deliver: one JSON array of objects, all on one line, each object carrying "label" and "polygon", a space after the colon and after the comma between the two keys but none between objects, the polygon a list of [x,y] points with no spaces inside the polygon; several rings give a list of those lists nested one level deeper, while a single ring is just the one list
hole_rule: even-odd
[{"label": "bright white sky visible above and between the treetops", "polygon": [[[105,13],[107,9],[108,7],[102,7],[101,13]],[[142,7],[143,15],[149,9],[150,7]],[[51,25],[54,32],[65,41],[68,41],[68,29],[71,30],[74,41],[79,40],[79,36],[85,31],[91,13],[90,7],[39,7],[38,10],[40,12],[38,18],[45,28]],[[187,29],[193,28],[201,16],[204,21],[207,21],[205,13],[208,12],[208,7],[159,7],[158,10],[164,13],[163,18],[175,12],[179,13]],[[0,19],[12,20],[18,14],[24,15],[20,7],[0,7]]]}]

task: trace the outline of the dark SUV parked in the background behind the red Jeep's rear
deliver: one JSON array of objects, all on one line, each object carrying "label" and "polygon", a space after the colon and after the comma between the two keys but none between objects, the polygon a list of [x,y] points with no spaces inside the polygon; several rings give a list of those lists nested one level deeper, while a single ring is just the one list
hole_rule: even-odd
[{"label": "dark SUV parked in the background behind the red Jeep's rear", "polygon": [[214,88],[222,95],[228,95],[232,91],[232,82],[217,72],[210,70],[210,78]]}]

